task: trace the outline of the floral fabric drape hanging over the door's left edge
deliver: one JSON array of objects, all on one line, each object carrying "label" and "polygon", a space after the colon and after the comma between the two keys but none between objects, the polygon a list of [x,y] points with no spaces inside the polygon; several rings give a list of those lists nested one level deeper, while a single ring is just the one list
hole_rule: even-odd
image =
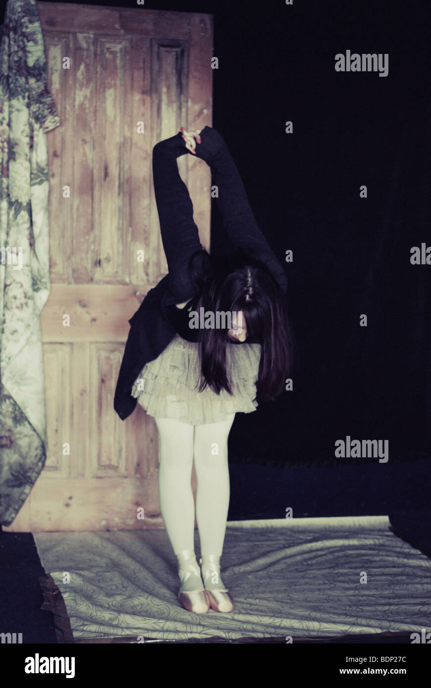
[{"label": "floral fabric drape hanging over the door's left edge", "polygon": [[40,326],[50,293],[45,133],[61,121],[48,91],[36,0],[8,0],[0,31],[0,522],[10,526],[46,459]]}]

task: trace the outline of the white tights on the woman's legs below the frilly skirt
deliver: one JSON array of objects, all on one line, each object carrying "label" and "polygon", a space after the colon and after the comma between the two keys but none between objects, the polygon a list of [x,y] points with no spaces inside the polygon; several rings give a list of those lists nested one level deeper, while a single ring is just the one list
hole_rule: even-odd
[{"label": "white tights on the woman's legs below the frilly skirt", "polygon": [[222,554],[230,497],[227,438],[233,418],[235,413],[229,413],[222,422],[204,425],[154,419],[160,435],[160,509],[176,554],[194,550],[193,456],[201,555]]}]

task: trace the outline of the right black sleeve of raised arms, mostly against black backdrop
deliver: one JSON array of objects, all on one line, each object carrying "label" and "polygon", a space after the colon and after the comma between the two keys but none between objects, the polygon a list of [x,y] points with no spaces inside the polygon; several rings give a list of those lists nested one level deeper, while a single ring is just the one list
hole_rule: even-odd
[{"label": "right black sleeve of raised arms, mostly against black backdrop", "polygon": [[196,155],[211,167],[213,182],[218,186],[218,208],[230,241],[233,246],[251,252],[253,257],[266,264],[285,294],[288,282],[284,269],[257,226],[227,144],[212,127],[202,129],[200,139],[201,143],[196,144]]}]

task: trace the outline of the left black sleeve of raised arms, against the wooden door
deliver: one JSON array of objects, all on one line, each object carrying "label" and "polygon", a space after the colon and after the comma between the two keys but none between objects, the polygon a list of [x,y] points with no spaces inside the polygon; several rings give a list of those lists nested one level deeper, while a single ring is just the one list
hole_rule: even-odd
[{"label": "left black sleeve of raised arms, against the wooden door", "polygon": [[[157,143],[153,148],[154,195],[160,222],[160,233],[169,270],[169,290],[162,305],[171,305],[190,299],[196,286],[187,270],[189,259],[201,251],[198,226],[193,221],[193,204],[187,186],[178,172],[177,158],[189,153],[180,131],[175,136]],[[192,153],[189,153],[192,155]]]}]

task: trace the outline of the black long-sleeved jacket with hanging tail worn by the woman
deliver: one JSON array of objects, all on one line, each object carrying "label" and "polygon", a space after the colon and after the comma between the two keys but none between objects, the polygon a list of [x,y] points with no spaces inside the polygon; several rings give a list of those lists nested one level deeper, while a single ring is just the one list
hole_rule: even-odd
[{"label": "black long-sleeved jacket with hanging tail worn by the woman", "polygon": [[[287,291],[287,278],[282,265],[257,227],[238,169],[224,139],[212,127],[200,132],[196,156],[211,168],[213,184],[218,186],[218,207],[224,228],[234,248],[243,248],[260,259],[271,270],[282,293]],[[160,221],[162,244],[167,259],[168,275],[149,290],[136,313],[129,320],[130,330],[114,394],[114,410],[125,420],[136,407],[132,385],[145,363],[153,361],[167,347],[178,331],[175,303],[196,297],[198,287],[187,270],[191,255],[200,250],[193,266],[204,265],[205,251],[198,227],[193,221],[193,204],[187,186],[180,178],[176,159],[193,155],[185,147],[179,131],[176,136],[160,141],[153,149],[154,193]],[[184,309],[187,313],[187,308]]]}]

